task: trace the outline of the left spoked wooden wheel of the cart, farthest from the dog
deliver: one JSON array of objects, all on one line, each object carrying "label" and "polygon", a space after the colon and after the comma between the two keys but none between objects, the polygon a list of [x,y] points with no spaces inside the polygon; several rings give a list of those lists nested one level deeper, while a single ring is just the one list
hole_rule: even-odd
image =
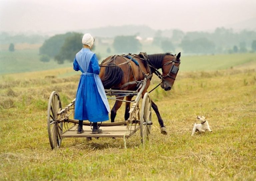
[{"label": "left spoked wooden wheel of the cart, farthest from the dog", "polygon": [[48,135],[52,149],[59,148],[62,140],[63,124],[58,122],[57,115],[61,109],[60,95],[58,92],[53,91],[49,98],[47,110]]}]

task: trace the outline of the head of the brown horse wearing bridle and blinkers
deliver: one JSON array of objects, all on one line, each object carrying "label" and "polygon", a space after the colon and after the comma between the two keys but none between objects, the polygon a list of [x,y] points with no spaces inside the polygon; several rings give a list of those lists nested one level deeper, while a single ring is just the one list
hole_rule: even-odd
[{"label": "head of the brown horse wearing bridle and blinkers", "polygon": [[162,83],[161,87],[165,90],[171,90],[175,78],[178,74],[179,71],[179,66],[180,66],[180,56],[181,53],[178,53],[178,55],[171,55],[171,54],[166,54],[163,61],[162,61]]}]

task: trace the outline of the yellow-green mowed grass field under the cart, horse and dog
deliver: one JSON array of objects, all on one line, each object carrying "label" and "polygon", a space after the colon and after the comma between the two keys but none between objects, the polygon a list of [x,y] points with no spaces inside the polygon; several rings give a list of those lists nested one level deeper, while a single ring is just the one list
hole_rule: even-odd
[{"label": "yellow-green mowed grass field under the cart, horse and dog", "polygon": [[[51,150],[48,98],[56,90],[63,106],[74,99],[79,75],[61,76],[68,72],[1,76],[0,180],[256,179],[254,69],[180,71],[171,91],[158,87],[150,94],[168,134],[160,133],[153,113],[145,148],[138,132],[126,140],[127,149],[119,138],[66,138],[61,148]],[[151,88],[158,81],[154,77]],[[117,120],[123,113],[124,104]],[[213,132],[190,136],[197,115],[208,117]]]}]

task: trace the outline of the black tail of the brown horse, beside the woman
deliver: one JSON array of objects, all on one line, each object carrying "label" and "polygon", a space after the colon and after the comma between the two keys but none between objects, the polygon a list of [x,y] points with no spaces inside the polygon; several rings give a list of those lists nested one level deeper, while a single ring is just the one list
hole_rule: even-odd
[{"label": "black tail of the brown horse, beside the woman", "polygon": [[105,89],[110,89],[121,83],[124,71],[113,62],[109,62],[107,66],[101,81]]}]

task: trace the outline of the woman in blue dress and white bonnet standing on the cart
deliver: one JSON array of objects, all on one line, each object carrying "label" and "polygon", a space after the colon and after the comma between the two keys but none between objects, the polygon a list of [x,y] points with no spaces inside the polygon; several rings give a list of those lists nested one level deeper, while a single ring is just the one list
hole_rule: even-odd
[{"label": "woman in blue dress and white bonnet standing on the cart", "polygon": [[76,93],[74,119],[79,120],[77,133],[83,133],[83,120],[93,123],[92,133],[101,133],[97,122],[109,120],[110,108],[104,87],[99,78],[100,67],[95,53],[91,52],[94,38],[86,33],[82,38],[83,48],[74,59],[73,68],[81,71]]}]

